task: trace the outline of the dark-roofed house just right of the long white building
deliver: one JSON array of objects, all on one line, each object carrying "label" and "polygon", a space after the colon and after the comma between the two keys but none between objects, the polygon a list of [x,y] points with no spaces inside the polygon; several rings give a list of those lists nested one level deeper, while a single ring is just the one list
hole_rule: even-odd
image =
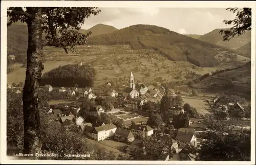
[{"label": "dark-roofed house just right of the long white building", "polygon": [[134,141],[134,135],[131,130],[117,128],[114,139],[118,142],[132,143]]}]

